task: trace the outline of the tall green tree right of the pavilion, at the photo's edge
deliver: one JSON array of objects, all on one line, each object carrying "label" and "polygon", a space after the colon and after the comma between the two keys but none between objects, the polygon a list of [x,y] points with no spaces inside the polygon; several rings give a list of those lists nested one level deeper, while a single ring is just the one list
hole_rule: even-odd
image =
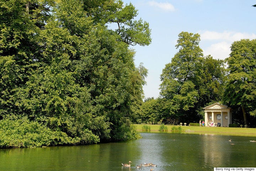
[{"label": "tall green tree right of the pavilion, at the photo's edge", "polygon": [[256,39],[242,39],[231,45],[228,63],[228,81],[224,100],[231,106],[240,106],[247,124],[247,115],[255,110],[256,96]]}]

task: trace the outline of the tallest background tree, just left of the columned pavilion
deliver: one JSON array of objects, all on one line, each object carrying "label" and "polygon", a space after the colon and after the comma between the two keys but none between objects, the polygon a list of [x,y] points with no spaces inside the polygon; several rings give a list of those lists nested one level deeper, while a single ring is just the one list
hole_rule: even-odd
[{"label": "tallest background tree, just left of the columned pavilion", "polygon": [[176,48],[179,51],[166,64],[161,74],[160,95],[169,101],[170,115],[178,120],[198,101],[197,89],[201,83],[203,50],[199,47],[200,35],[181,32]]}]

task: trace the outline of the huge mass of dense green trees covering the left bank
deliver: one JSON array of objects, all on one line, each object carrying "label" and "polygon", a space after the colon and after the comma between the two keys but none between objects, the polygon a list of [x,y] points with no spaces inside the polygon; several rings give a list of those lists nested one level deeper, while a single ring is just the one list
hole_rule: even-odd
[{"label": "huge mass of dense green trees covering the left bank", "polygon": [[38,127],[46,141],[34,136],[36,144],[13,145],[6,132],[1,147],[137,138],[130,119],[147,70],[134,65],[129,45],[151,42],[149,24],[134,20],[137,14],[121,0],[1,0],[1,130],[9,123],[20,125],[13,135]]}]

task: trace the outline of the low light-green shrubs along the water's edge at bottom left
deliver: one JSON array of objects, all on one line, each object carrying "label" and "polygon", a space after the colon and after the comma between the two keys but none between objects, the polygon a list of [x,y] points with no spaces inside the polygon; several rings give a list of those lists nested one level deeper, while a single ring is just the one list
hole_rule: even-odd
[{"label": "low light-green shrubs along the water's edge at bottom left", "polygon": [[87,129],[80,137],[69,137],[65,132],[50,130],[36,121],[29,121],[28,118],[0,121],[0,148],[84,145],[99,141],[99,137]]}]

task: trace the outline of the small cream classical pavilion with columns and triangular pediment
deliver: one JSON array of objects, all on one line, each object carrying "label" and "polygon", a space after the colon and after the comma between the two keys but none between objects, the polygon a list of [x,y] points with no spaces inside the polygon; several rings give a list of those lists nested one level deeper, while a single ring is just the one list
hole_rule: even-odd
[{"label": "small cream classical pavilion with columns and triangular pediment", "polygon": [[232,123],[230,108],[226,105],[214,103],[204,109],[204,122],[206,126],[213,121],[213,126],[228,127]]}]

